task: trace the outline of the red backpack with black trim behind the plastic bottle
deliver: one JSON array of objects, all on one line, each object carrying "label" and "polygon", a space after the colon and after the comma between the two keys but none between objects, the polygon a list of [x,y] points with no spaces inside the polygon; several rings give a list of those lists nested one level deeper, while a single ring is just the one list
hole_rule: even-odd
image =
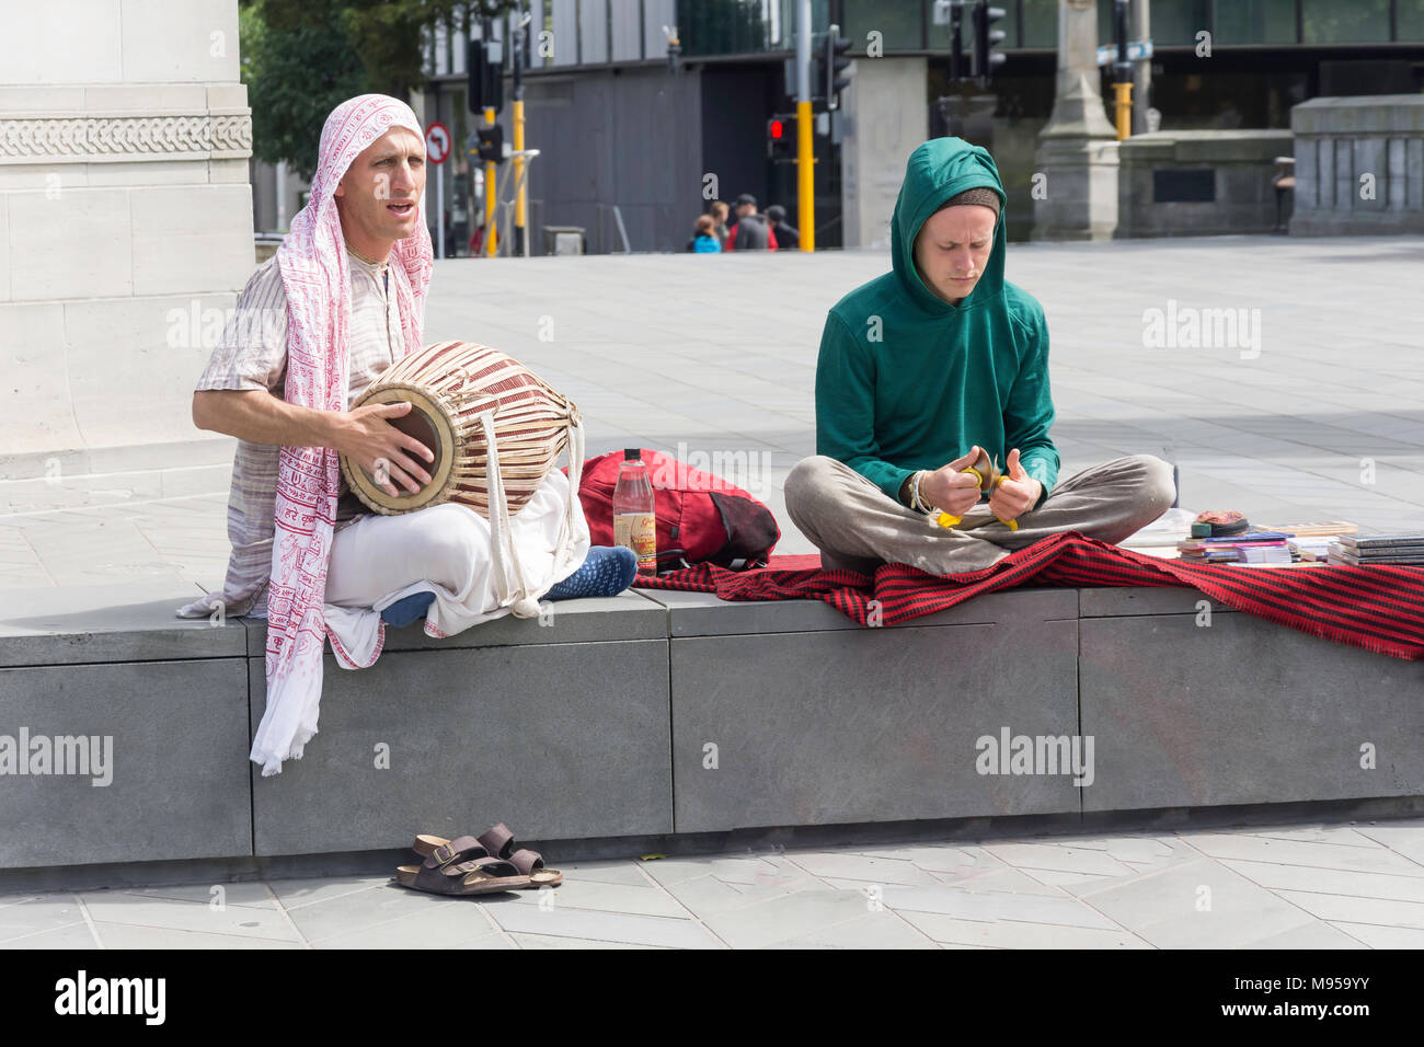
[{"label": "red backpack with black trim behind the plastic bottle", "polygon": [[[578,500],[594,546],[614,544],[614,486],[621,450],[584,463]],[[782,538],[772,510],[740,487],[671,454],[642,452],[658,517],[658,573],[713,563],[735,571],[765,567]]]}]

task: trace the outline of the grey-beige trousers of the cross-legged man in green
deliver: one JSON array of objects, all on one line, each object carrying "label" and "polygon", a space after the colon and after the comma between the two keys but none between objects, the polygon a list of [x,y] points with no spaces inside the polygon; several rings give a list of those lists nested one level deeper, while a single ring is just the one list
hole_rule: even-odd
[{"label": "grey-beige trousers of the cross-legged man in green", "polygon": [[954,528],[886,497],[849,466],[816,454],[786,477],[786,511],[820,550],[827,570],[870,573],[880,563],[928,574],[991,567],[1010,551],[1058,531],[1116,544],[1165,513],[1175,499],[1172,466],[1151,454],[1115,459],[1061,480],[1011,531],[980,501]]}]

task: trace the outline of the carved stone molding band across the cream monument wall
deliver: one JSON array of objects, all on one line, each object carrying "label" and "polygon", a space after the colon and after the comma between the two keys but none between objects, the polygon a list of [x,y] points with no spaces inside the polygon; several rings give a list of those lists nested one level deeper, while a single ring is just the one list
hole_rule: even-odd
[{"label": "carved stone molding band across the cream monument wall", "polygon": [[0,164],[245,160],[252,117],[57,117],[0,120]]}]

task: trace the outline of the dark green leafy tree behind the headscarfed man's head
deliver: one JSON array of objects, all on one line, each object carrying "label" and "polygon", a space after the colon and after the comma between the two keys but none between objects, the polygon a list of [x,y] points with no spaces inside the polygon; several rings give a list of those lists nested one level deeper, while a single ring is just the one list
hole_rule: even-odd
[{"label": "dark green leafy tree behind the headscarfed man's head", "polygon": [[514,0],[241,0],[253,155],[285,160],[310,181],[336,105],[366,91],[409,98],[424,87],[424,26],[461,30],[466,19],[513,9]]}]

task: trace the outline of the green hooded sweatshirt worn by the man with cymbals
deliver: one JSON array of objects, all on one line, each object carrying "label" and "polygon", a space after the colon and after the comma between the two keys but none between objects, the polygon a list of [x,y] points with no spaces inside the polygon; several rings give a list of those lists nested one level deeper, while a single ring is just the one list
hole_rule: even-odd
[{"label": "green hooded sweatshirt worn by the man with cymbals", "polygon": [[[974,444],[1008,452],[1048,496],[1058,449],[1048,439],[1048,325],[1027,291],[1004,281],[1004,211],[974,291],[957,306],[930,291],[914,236],[944,201],[984,187],[1004,199],[988,152],[934,138],[910,154],[894,205],[894,269],[842,298],[816,362],[816,453],[837,459],[889,497],[917,469],[938,469]],[[1042,504],[1042,499],[1034,506]]]}]

